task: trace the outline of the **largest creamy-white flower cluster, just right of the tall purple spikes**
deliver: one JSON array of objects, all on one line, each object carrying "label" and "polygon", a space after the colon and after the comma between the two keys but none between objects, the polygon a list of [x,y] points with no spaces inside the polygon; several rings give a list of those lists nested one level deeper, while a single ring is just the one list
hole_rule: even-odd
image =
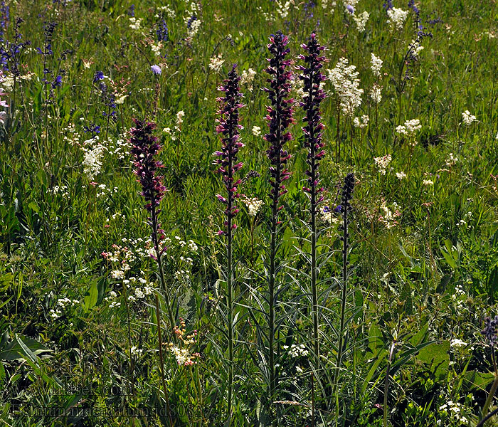
[{"label": "largest creamy-white flower cluster, just right of the tall purple spikes", "polygon": [[361,105],[363,89],[359,88],[360,80],[354,65],[349,65],[349,60],[340,58],[332,70],[327,70],[329,80],[339,96],[341,110],[347,117],[354,115],[354,110]]}]

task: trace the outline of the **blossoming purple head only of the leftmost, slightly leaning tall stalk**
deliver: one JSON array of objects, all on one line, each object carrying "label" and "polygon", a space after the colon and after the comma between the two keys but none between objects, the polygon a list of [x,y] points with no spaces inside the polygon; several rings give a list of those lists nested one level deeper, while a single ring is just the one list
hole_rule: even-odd
[{"label": "blossoming purple head only of the leftmost, slightly leaning tall stalk", "polygon": [[[154,159],[154,156],[161,149],[157,142],[157,137],[152,135],[156,124],[134,119],[135,127],[130,130],[132,137],[129,142],[132,144],[132,154],[134,156],[134,174],[137,175],[142,186],[142,196],[146,201],[145,209],[152,214],[157,214],[155,208],[159,206],[164,197],[166,187],[162,184],[162,176],[157,175],[157,169],[162,167],[161,162]],[[159,224],[157,224],[159,226]]]}]

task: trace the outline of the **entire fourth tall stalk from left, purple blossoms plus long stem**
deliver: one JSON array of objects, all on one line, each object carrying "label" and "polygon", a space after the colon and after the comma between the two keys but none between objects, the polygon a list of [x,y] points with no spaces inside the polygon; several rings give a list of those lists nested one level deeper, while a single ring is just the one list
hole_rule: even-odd
[{"label": "entire fourth tall stalk from left, purple blossoms plus long stem", "polygon": [[313,344],[315,357],[319,356],[319,337],[318,337],[318,297],[317,297],[317,206],[323,200],[323,187],[320,186],[318,167],[320,159],[324,157],[324,143],[322,135],[324,125],[320,122],[320,103],[324,100],[325,92],[320,85],[325,80],[325,76],[320,71],[325,61],[322,55],[325,46],[320,46],[314,33],[309,37],[307,44],[301,47],[306,51],[299,58],[304,60],[306,66],[299,65],[298,69],[302,70],[300,79],[304,82],[304,97],[300,105],[303,107],[306,115],[304,122],[306,125],[302,128],[304,132],[304,147],[308,149],[306,162],[308,169],[307,186],[303,191],[309,196],[309,223],[311,229],[311,280],[312,280],[312,315],[313,315]]}]

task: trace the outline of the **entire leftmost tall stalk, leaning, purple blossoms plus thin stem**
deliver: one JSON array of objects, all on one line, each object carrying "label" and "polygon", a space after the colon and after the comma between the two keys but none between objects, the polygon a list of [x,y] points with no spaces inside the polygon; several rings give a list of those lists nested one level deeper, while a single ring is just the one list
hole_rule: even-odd
[{"label": "entire leftmost tall stalk, leaning, purple blossoms plus thin stem", "polygon": [[[131,153],[134,158],[134,174],[137,175],[137,181],[142,186],[142,196],[145,199],[144,208],[149,212],[148,223],[152,227],[152,243],[154,243],[154,253],[152,258],[156,260],[159,270],[159,280],[161,288],[164,293],[164,300],[168,310],[169,317],[169,331],[173,336],[174,330],[174,317],[171,310],[171,302],[169,300],[169,290],[166,289],[166,282],[164,280],[164,271],[162,266],[162,255],[166,251],[166,247],[161,248],[160,240],[164,236],[164,231],[161,230],[157,215],[161,212],[159,204],[161,199],[166,193],[166,187],[162,184],[162,176],[157,174],[159,168],[162,167],[161,162],[154,157],[161,149],[161,145],[157,142],[157,137],[152,135],[156,127],[154,122],[147,122],[145,120],[134,119],[135,126],[130,130],[131,137],[129,139],[132,144]],[[168,391],[164,381],[164,359],[162,354],[162,338],[161,338],[161,321],[159,311],[159,297],[157,293],[156,298],[156,316],[157,316],[157,334],[159,339],[159,362],[161,364],[161,379],[164,387],[164,395],[166,396],[166,406],[168,405]],[[169,413],[169,410],[167,410]],[[171,416],[170,416],[171,422]],[[172,422],[171,422],[172,425]]]}]

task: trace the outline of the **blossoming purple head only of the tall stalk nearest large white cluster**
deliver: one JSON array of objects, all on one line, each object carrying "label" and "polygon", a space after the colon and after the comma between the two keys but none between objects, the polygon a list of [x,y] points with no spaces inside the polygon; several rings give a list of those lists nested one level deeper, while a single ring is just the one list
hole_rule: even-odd
[{"label": "blossoming purple head only of the tall stalk nearest large white cluster", "polygon": [[308,169],[305,172],[307,175],[307,187],[304,187],[303,190],[309,194],[311,214],[314,216],[319,202],[317,200],[319,199],[319,193],[323,191],[319,186],[318,167],[320,159],[325,154],[324,143],[322,142],[324,125],[320,122],[322,117],[319,110],[320,103],[325,97],[324,90],[321,87],[325,76],[320,71],[325,61],[325,57],[322,56],[322,51],[324,51],[325,47],[319,45],[314,33],[309,37],[309,42],[302,44],[301,47],[306,53],[300,55],[299,58],[304,60],[306,66],[300,65],[298,67],[302,70],[300,79],[304,83],[304,97],[300,105],[306,113],[304,116],[306,125],[302,130],[304,132],[304,147],[308,149],[306,160]]}]

